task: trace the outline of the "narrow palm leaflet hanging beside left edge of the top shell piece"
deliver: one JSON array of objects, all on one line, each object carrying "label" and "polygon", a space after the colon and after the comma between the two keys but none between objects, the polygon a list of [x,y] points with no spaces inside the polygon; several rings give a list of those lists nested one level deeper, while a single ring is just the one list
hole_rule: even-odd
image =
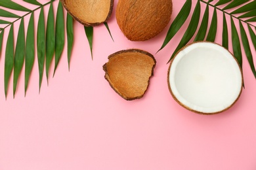
[{"label": "narrow palm leaflet hanging beside left edge of the top shell piece", "polygon": [[66,20],[67,20],[66,29],[67,29],[67,39],[68,39],[68,70],[70,70],[70,58],[71,58],[72,47],[74,42],[74,28],[73,28],[74,19],[70,14],[67,13]]}]

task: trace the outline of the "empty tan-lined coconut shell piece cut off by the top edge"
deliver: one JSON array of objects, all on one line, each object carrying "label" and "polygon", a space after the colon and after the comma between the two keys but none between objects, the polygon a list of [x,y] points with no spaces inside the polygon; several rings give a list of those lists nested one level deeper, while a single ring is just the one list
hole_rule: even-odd
[{"label": "empty tan-lined coconut shell piece cut off by the top edge", "polygon": [[107,22],[113,10],[114,0],[60,0],[68,13],[85,26]]}]

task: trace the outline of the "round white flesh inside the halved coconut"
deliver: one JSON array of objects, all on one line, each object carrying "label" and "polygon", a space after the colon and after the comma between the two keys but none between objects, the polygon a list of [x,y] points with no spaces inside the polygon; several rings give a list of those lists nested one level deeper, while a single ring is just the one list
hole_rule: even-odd
[{"label": "round white flesh inside the halved coconut", "polygon": [[184,107],[205,114],[228,109],[242,92],[238,62],[223,46],[192,43],[169,67],[169,88]]}]

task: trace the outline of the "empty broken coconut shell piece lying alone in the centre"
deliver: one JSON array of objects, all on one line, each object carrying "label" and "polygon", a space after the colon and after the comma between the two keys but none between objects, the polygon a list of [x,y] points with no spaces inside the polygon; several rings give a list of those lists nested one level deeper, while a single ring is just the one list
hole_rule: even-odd
[{"label": "empty broken coconut shell piece lying alone in the centre", "polygon": [[140,99],[148,89],[156,59],[139,49],[121,50],[103,65],[110,86],[126,100]]}]

